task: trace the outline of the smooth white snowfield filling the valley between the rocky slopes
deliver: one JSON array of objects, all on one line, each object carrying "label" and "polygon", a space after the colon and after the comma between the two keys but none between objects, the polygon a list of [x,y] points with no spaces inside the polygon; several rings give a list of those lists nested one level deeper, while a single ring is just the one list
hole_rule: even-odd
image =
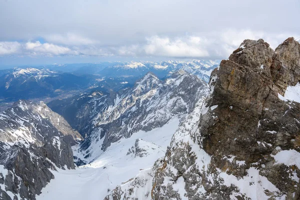
[{"label": "smooth white snowfield filling the valley between the rocky slopes", "polygon": [[[178,125],[179,120],[172,119],[160,128],[148,132],[138,131],[130,138],[112,143],[90,164],[73,170],[57,168],[58,171],[52,171],[55,178],[42,189],[36,199],[103,199],[109,190],[134,177],[139,170],[151,167],[157,158],[163,156]],[[148,155],[127,155],[128,149],[134,146],[138,138],[146,141],[143,143],[148,148]],[[161,147],[153,149],[155,144]]]}]

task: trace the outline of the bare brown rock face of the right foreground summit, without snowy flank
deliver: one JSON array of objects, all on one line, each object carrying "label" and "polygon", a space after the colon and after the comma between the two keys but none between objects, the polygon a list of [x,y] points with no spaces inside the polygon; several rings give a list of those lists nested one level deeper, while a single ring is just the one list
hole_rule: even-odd
[{"label": "bare brown rock face of the right foreground summit, without snowy flank", "polygon": [[217,107],[200,118],[200,132],[209,154],[234,152],[239,159],[255,162],[276,146],[291,148],[298,134],[299,104],[282,101],[278,93],[283,96],[287,85],[299,81],[300,45],[288,38],[274,53],[262,39],[242,45],[213,73],[217,78],[211,80],[214,89],[206,105]]}]

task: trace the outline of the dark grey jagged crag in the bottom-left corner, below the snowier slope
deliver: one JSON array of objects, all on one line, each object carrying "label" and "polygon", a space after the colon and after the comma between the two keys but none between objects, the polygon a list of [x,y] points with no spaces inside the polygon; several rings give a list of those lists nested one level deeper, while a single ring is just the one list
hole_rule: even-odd
[{"label": "dark grey jagged crag in the bottom-left corner, below the snowier slope", "polygon": [[1,170],[3,190],[12,192],[18,199],[35,199],[42,187],[54,178],[49,168],[55,170],[55,166],[38,150],[34,145],[25,147],[19,143],[0,156],[0,164],[6,169]]}]

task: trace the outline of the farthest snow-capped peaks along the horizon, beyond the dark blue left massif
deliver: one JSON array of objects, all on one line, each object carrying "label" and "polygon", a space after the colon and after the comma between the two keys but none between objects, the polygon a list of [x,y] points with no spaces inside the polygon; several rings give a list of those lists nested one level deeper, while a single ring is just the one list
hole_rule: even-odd
[{"label": "farthest snow-capped peaks along the horizon, beyond the dark blue left massif", "polygon": [[134,75],[142,76],[147,72],[154,73],[162,78],[169,72],[183,69],[208,82],[211,71],[217,67],[219,60],[168,60],[162,62],[140,61],[140,62],[99,62],[78,64],[52,64],[45,66],[52,70],[63,70],[73,74],[98,74],[102,76]]}]

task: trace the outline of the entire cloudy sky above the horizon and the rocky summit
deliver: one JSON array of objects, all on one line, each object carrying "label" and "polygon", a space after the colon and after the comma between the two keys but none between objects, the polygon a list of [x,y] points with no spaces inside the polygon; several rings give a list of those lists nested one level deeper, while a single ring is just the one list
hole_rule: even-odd
[{"label": "entire cloudy sky above the horizon and the rocky summit", "polygon": [[0,0],[0,64],[227,58],[300,38],[299,0]]}]

